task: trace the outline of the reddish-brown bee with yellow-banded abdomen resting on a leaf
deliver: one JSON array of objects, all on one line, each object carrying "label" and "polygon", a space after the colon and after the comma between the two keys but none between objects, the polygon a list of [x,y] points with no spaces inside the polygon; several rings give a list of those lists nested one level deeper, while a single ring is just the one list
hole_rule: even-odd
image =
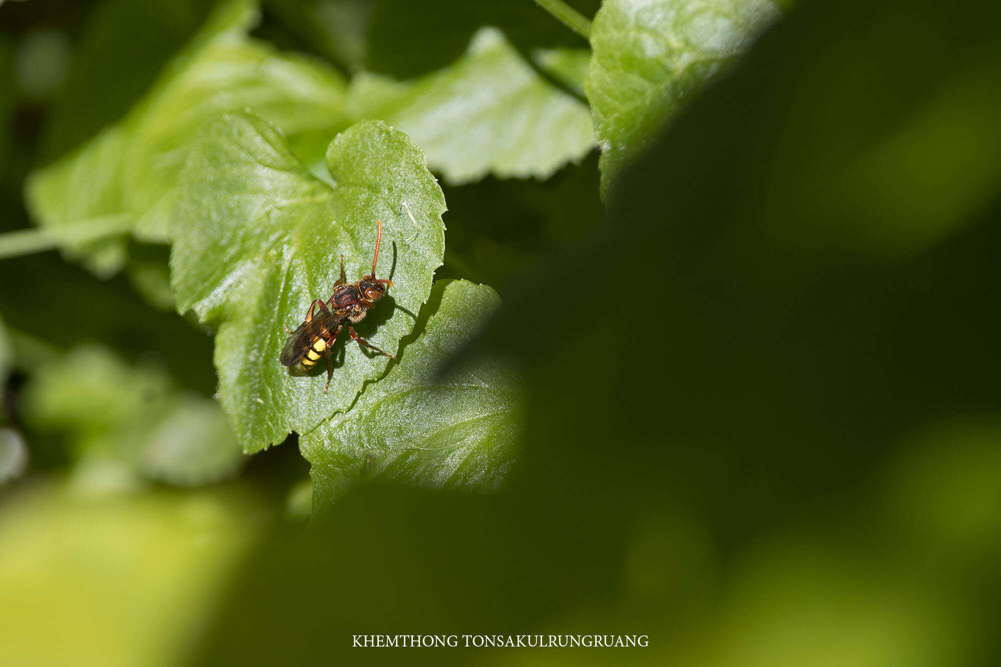
[{"label": "reddish-brown bee with yellow-banded abdomen resting on a leaf", "polygon": [[[380,355],[396,359],[371,345],[354,331],[354,324],[364,319],[375,301],[382,298],[387,287],[392,286],[392,280],[375,277],[375,263],[378,261],[378,248],[382,244],[382,222],[375,220],[375,256],[372,257],[372,272],[363,276],[357,282],[346,282],[344,278],[344,255],[340,255],[340,277],[333,283],[333,293],[330,298],[314,298],[309,304],[305,321],[294,331],[285,327],[289,333],[285,347],[278,360],[284,366],[299,364],[306,371],[316,366],[319,358],[326,358],[326,386],[323,394],[330,387],[333,377],[333,367],[330,365],[330,348],[337,340],[340,329],[347,325],[351,339],[361,348],[374,350]],[[319,306],[317,313],[316,306]]]}]

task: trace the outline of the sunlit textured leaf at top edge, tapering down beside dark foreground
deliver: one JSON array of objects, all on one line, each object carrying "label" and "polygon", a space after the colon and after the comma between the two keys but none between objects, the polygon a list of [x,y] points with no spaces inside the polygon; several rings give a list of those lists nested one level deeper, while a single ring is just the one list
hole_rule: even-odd
[{"label": "sunlit textured leaf at top edge, tapering down beside dark foreground", "polygon": [[770,0],[607,0],[595,16],[588,99],[602,189],[779,15]]}]

